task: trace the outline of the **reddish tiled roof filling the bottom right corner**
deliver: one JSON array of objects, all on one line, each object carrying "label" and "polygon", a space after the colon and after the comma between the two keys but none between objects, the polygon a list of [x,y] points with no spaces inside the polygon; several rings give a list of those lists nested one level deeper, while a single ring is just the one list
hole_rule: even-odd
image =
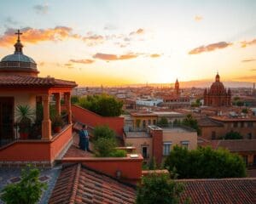
[{"label": "reddish tiled roof filling the bottom right corner", "polygon": [[256,203],[256,178],[186,179],[181,203],[250,204]]}]

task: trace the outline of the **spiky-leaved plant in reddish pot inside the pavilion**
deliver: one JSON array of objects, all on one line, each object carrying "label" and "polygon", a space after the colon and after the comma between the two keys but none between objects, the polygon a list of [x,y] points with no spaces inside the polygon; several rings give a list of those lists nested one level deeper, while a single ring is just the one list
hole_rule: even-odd
[{"label": "spiky-leaved plant in reddish pot inside the pavilion", "polygon": [[27,139],[31,127],[34,111],[29,105],[18,105],[16,107],[20,139]]}]

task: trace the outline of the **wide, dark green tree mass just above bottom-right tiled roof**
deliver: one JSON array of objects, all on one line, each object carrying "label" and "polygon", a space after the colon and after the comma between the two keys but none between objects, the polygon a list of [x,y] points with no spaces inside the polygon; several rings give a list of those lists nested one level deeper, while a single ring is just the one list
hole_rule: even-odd
[{"label": "wide, dark green tree mass just above bottom-right tiled roof", "polygon": [[246,176],[241,156],[228,150],[199,147],[196,150],[174,146],[165,167],[177,169],[179,178],[238,178]]}]

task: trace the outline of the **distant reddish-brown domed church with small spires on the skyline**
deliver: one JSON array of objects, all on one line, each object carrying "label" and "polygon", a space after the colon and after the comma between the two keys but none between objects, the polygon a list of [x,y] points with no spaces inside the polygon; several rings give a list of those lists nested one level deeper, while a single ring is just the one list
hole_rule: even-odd
[{"label": "distant reddish-brown domed church with small spires on the skyline", "polygon": [[220,82],[220,77],[217,73],[215,82],[212,83],[210,89],[205,89],[204,105],[207,106],[230,106],[231,91],[224,88],[224,84]]}]

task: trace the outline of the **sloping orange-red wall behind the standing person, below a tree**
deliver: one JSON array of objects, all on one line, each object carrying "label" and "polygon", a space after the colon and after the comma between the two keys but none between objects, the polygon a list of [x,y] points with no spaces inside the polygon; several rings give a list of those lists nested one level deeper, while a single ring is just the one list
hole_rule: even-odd
[{"label": "sloping orange-red wall behind the standing person, below a tree", "polygon": [[72,105],[73,118],[77,122],[82,122],[88,126],[96,127],[98,125],[108,125],[118,136],[123,135],[124,118],[123,117],[105,117],[78,105]]}]

